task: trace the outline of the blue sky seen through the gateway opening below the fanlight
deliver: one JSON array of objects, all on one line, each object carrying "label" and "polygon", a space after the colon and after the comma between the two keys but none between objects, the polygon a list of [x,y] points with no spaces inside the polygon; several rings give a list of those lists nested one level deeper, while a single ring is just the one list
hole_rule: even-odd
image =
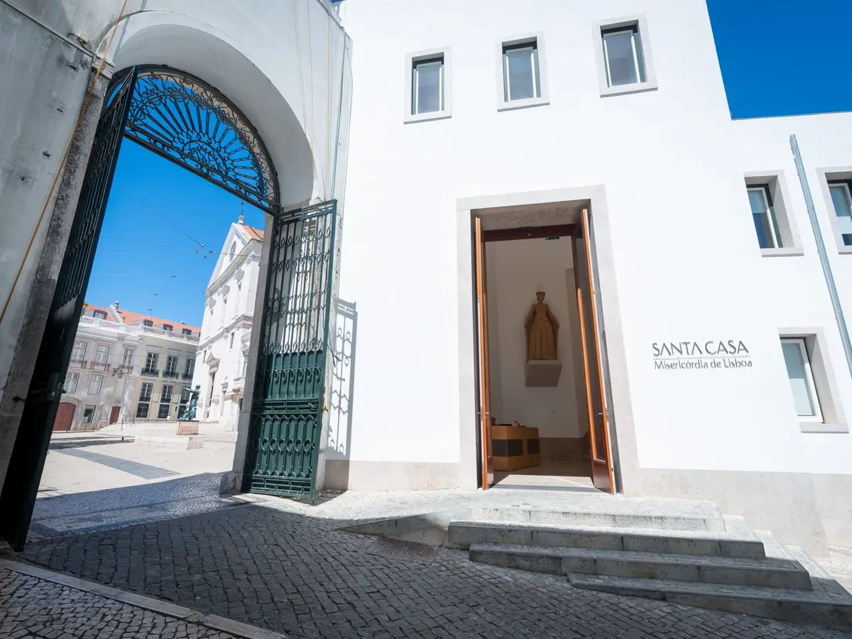
[{"label": "blue sky seen through the gateway opening below the fanlight", "polygon": [[[86,302],[118,300],[129,311],[200,326],[204,289],[240,202],[125,138]],[[244,209],[245,223],[262,228],[263,212],[250,204]]]}]

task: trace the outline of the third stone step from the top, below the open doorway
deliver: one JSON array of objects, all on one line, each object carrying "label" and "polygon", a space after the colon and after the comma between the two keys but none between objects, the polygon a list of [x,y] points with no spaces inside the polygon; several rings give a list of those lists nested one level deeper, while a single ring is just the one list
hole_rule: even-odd
[{"label": "third stone step from the top, below the open doorway", "polygon": [[523,544],[471,544],[471,561],[551,574],[598,574],[705,584],[810,590],[797,561],[671,555],[630,550],[560,548]]}]

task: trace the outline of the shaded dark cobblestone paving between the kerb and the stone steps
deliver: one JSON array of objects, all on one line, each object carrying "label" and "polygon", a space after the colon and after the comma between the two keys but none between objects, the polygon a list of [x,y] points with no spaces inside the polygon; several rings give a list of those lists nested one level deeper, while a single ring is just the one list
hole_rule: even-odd
[{"label": "shaded dark cobblestone paving between the kerb and the stone steps", "polygon": [[288,637],[832,637],[813,627],[574,589],[262,504],[38,540],[23,558]]}]

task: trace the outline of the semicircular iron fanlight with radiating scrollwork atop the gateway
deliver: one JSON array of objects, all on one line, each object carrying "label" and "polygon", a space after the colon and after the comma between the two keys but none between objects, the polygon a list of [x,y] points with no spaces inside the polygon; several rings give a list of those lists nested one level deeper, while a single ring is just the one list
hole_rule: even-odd
[{"label": "semicircular iron fanlight with radiating scrollwork atop the gateway", "polygon": [[242,112],[189,73],[167,66],[138,68],[125,135],[239,198],[272,210],[278,202],[273,164]]}]

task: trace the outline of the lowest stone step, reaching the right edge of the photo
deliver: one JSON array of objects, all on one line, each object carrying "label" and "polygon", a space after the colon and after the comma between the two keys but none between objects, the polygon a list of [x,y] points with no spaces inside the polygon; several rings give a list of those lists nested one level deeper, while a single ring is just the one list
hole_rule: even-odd
[{"label": "lowest stone step, reaching the right edge of the photo", "polygon": [[584,590],[641,596],[684,606],[852,630],[852,596],[849,593],[843,596],[843,593],[825,588],[818,589],[816,584],[814,590],[792,590],[577,573],[569,574],[568,579],[573,586]]}]

